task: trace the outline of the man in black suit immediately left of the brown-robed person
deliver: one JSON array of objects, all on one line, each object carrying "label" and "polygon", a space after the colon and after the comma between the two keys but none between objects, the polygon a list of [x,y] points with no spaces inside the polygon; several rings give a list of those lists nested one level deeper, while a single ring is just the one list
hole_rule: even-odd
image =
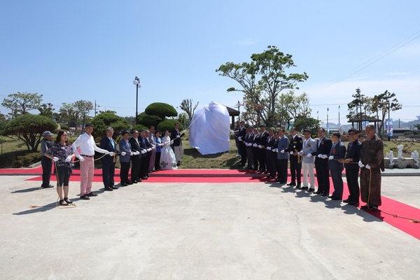
[{"label": "man in black suit immediately left of the brown-robed person", "polygon": [[344,167],[346,168],[346,180],[349,187],[349,197],[343,200],[349,205],[359,206],[360,188],[358,184],[358,172],[360,167],[358,162],[360,160],[360,148],[362,144],[358,141],[358,131],[355,128],[349,130],[350,143],[347,146],[347,154],[344,160]]}]

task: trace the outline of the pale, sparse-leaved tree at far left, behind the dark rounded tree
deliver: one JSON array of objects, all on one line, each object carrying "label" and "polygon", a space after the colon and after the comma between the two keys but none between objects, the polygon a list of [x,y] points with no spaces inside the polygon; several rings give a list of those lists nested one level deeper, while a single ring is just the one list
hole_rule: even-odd
[{"label": "pale, sparse-leaved tree at far left, behind the dark rounded tree", "polygon": [[15,118],[28,111],[38,109],[41,106],[42,94],[30,92],[18,92],[8,95],[9,98],[3,99],[1,106],[12,110],[11,116]]}]

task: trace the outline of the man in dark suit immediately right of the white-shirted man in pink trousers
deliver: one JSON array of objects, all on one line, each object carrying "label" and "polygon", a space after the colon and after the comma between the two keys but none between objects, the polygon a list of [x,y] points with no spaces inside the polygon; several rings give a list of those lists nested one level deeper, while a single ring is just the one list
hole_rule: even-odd
[{"label": "man in dark suit immediately right of the white-shirted man in pink trousers", "polygon": [[114,186],[114,174],[116,172],[116,153],[117,142],[112,138],[113,128],[108,127],[106,129],[106,136],[101,139],[100,148],[113,152],[112,157],[102,158],[102,181],[104,182],[104,188],[107,191],[118,190],[118,187]]}]

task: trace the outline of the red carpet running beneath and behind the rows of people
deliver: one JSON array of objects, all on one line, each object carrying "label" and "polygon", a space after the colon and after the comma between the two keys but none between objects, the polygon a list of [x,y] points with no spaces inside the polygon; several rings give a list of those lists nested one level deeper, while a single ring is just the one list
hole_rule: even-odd
[{"label": "red carpet running beneath and behind the rows of people", "polygon": [[[41,167],[32,169],[0,169],[0,175],[34,175],[36,177],[28,179],[28,181],[42,181]],[[116,181],[119,180],[120,169],[116,169]],[[162,170],[153,172],[153,176],[144,180],[144,183],[241,183],[241,182],[273,182],[267,178],[263,178],[265,174],[256,174],[247,170],[237,169],[178,169],[178,170]],[[52,176],[54,179],[54,176]],[[80,181],[80,172],[73,169],[70,181]],[[95,169],[94,182],[102,182],[102,170]],[[331,192],[332,192],[331,181]],[[347,184],[344,183],[343,199],[349,195]],[[360,202],[360,205],[365,203]],[[379,207],[381,211],[367,211],[395,228],[398,228],[417,239],[420,239],[420,223],[412,223],[410,220],[420,219],[420,209],[411,207],[402,202],[382,197],[382,205]],[[397,216],[398,215],[398,216]],[[406,218],[401,218],[406,217]]]}]

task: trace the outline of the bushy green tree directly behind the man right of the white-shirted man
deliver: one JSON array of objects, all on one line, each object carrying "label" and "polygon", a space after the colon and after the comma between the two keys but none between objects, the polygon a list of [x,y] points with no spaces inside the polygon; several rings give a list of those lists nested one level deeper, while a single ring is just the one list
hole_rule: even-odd
[{"label": "bushy green tree directly behind the man right of the white-shirted man", "polygon": [[92,124],[94,126],[92,133],[94,137],[104,137],[106,128],[112,127],[114,130],[113,139],[116,139],[120,132],[130,130],[131,127],[125,118],[117,116],[115,113],[100,113],[92,118]]}]

